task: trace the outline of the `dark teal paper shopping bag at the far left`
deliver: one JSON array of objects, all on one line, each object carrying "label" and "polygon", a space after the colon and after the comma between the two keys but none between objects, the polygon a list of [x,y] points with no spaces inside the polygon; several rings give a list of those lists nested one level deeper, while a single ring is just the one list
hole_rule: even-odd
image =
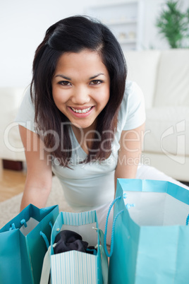
[{"label": "dark teal paper shopping bag at the far left", "polygon": [[39,209],[30,204],[1,228],[0,283],[39,284],[51,227],[58,215],[59,206]]}]

